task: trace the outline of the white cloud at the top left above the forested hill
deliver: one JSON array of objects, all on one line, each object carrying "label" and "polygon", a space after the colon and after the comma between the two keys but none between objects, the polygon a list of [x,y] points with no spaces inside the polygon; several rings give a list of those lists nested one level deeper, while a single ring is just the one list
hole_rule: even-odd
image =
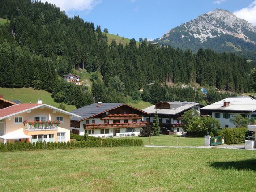
[{"label": "white cloud at the top left above the forested hill", "polygon": [[60,7],[60,10],[65,9],[68,11],[90,11],[94,8],[95,5],[101,2],[101,0],[41,0],[42,2],[48,2],[55,4],[57,7]]}]

